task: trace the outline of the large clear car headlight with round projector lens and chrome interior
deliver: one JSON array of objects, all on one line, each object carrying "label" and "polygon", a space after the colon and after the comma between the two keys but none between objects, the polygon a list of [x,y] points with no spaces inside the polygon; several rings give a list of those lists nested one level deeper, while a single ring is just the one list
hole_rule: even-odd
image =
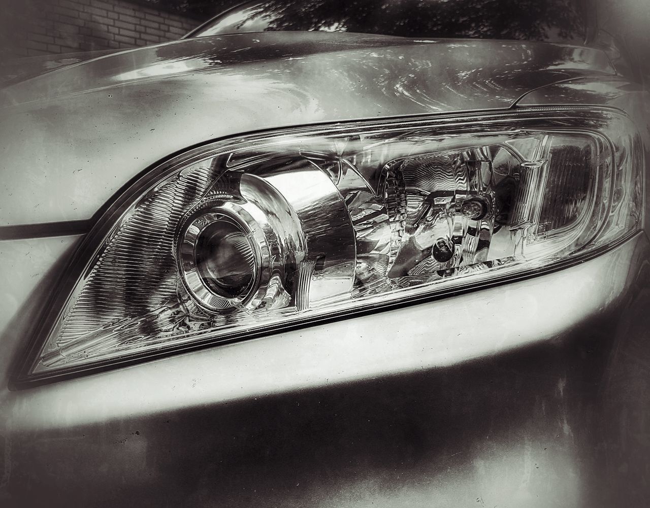
[{"label": "large clear car headlight with round projector lens and chrome interior", "polygon": [[642,227],[638,144],[613,110],[547,109],[193,149],[147,171],[88,235],[25,374],[259,336],[585,259]]}]

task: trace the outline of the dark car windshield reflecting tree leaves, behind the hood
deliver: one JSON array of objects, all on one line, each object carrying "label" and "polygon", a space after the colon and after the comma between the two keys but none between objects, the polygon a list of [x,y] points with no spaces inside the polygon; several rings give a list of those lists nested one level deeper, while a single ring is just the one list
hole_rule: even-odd
[{"label": "dark car windshield reflecting tree leaves, behind the hood", "polygon": [[266,0],[220,16],[195,36],[344,31],[404,37],[582,43],[580,0]]}]

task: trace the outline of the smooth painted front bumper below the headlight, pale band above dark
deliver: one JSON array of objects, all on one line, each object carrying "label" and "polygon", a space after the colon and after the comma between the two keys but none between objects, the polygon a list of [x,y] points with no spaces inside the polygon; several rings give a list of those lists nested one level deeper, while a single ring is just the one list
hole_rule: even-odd
[{"label": "smooth painted front bumper below the headlight, pale band above dark", "polygon": [[[74,242],[0,242],[7,372]],[[460,296],[40,387],[4,383],[0,499],[644,506],[649,259],[642,234]]]}]

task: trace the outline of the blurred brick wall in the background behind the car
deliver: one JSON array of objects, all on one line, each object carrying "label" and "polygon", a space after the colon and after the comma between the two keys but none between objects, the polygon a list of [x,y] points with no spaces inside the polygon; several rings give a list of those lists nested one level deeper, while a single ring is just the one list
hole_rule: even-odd
[{"label": "blurred brick wall in the background behind the car", "polygon": [[5,58],[157,44],[200,24],[127,0],[18,0],[0,16]]}]

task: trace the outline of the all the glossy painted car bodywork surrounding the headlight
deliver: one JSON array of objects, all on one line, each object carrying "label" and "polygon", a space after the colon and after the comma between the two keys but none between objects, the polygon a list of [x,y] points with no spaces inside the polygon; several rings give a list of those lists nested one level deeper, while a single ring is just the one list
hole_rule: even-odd
[{"label": "all the glossy painted car bodywork surrounding the headlight", "polygon": [[[78,66],[27,82],[22,92],[8,89],[6,100],[29,101],[2,116],[10,153],[0,182],[3,224],[92,216],[150,162],[214,137],[505,108],[562,77],[589,75],[594,91],[553,95],[550,87],[521,104],[614,105],[634,118],[646,153],[650,146],[642,92],[618,82],[606,86],[616,94],[601,93],[597,78],[612,69],[597,51],[387,38],[380,38],[387,46],[359,49],[350,48],[355,36],[337,35],[324,37],[346,49],[317,56],[307,46],[300,60],[298,48],[287,56],[273,36],[283,56],[267,62],[179,73],[174,65],[196,61],[186,54],[172,68],[164,60],[157,78],[115,81],[122,70],[114,68],[84,82]],[[411,57],[416,50],[420,60]],[[157,57],[146,55],[157,48],[104,63],[122,58],[129,72],[140,69],[138,51],[150,70]],[[382,58],[369,59],[375,52]],[[341,64],[341,55],[356,67]],[[510,63],[512,73],[504,71]],[[399,81],[409,72],[410,84]],[[78,240],[0,242],[3,505],[647,505],[646,235],[489,290],[9,391],[10,365]]]}]

